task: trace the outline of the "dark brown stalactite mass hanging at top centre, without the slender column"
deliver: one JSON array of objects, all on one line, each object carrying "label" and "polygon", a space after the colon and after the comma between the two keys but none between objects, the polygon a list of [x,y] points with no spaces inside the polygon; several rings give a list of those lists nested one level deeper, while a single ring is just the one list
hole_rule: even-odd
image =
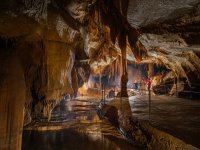
[{"label": "dark brown stalactite mass hanging at top centre, without the slender column", "polygon": [[[109,26],[110,38],[114,44],[116,42],[116,38],[121,37],[122,32],[125,34],[125,36],[128,36],[128,42],[131,46],[133,54],[135,55],[135,58],[138,61],[141,61],[142,56],[146,53],[146,49],[138,40],[140,32],[136,28],[132,27],[126,20],[125,14],[127,13],[128,1],[129,0],[113,2],[110,0],[107,3],[99,1],[101,20],[103,24]],[[116,3],[121,4],[120,9],[116,8]],[[121,39],[125,38],[121,37]],[[122,42],[119,39],[118,41]]]}]

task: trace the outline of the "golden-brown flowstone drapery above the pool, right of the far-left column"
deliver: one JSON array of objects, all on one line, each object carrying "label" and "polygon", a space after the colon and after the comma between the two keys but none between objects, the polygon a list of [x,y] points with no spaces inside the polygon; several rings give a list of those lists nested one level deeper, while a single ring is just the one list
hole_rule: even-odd
[{"label": "golden-brown flowstone drapery above the pool, right of the far-left column", "polygon": [[[25,63],[27,95],[30,96],[27,96],[29,98],[27,98],[26,104],[29,106],[27,109],[31,107],[33,118],[47,117],[49,120],[55,105],[66,94],[73,93],[71,69],[74,63],[74,54],[65,43],[43,41],[42,45],[40,45],[41,49],[36,48],[32,51],[33,53],[30,55],[33,56],[36,53],[32,59],[27,58],[27,54],[23,55],[29,59],[30,63],[29,65]],[[30,62],[30,60],[36,61],[36,58],[40,57],[40,61]]]}]

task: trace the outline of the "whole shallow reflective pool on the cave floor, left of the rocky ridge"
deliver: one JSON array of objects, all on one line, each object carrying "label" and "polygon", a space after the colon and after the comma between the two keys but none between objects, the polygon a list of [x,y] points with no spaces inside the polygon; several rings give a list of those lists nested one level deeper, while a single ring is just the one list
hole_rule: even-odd
[{"label": "whole shallow reflective pool on the cave floor, left of the rocky ridge", "polygon": [[97,99],[92,98],[62,101],[54,109],[50,123],[26,127],[22,149],[136,150],[109,122],[99,119],[98,104]]}]

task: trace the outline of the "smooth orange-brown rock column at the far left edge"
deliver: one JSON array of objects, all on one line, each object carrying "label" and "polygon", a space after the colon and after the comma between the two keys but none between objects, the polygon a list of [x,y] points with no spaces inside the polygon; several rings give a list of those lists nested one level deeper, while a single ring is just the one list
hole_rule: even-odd
[{"label": "smooth orange-brown rock column at the far left edge", "polygon": [[0,149],[20,150],[23,131],[25,80],[19,60],[0,50]]}]

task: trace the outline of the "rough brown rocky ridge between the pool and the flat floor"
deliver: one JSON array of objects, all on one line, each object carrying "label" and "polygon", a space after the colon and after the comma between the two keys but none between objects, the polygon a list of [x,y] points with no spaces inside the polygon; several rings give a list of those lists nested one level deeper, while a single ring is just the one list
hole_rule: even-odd
[{"label": "rough brown rocky ridge between the pool and the flat floor", "polygon": [[133,118],[127,99],[116,99],[113,100],[113,103],[110,101],[108,105],[100,105],[99,114],[106,117],[109,121],[113,121],[112,118],[109,118],[110,115],[108,115],[108,113],[110,110],[114,110],[114,108],[118,110],[118,113],[115,116],[118,121],[115,119],[115,122],[113,122],[114,125],[118,125],[116,127],[118,127],[127,138],[135,142],[135,144],[146,147],[147,149],[158,150],[198,149],[155,128],[147,121],[139,121],[138,119]]}]

